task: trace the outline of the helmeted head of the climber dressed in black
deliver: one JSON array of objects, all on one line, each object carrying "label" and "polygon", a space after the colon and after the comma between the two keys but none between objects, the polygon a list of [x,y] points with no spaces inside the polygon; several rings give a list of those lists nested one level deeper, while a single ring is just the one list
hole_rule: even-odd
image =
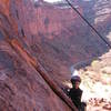
[{"label": "helmeted head of the climber dressed in black", "polygon": [[81,83],[81,78],[79,75],[73,75],[71,78],[71,83],[72,83],[73,88],[78,89]]}]

